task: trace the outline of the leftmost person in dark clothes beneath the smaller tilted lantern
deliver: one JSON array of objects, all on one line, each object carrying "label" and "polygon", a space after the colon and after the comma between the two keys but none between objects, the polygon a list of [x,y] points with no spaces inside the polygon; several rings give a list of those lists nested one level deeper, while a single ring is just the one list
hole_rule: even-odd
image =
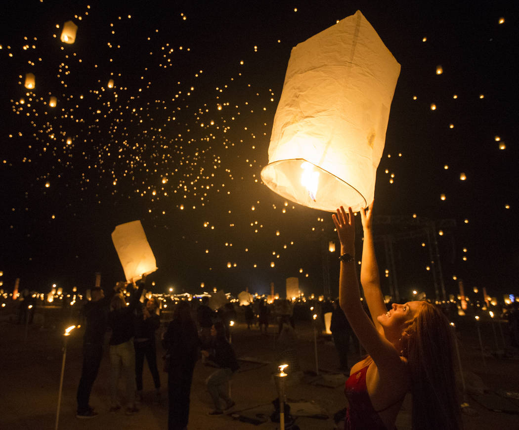
[{"label": "leftmost person in dark clothes beneath the smaller tilted lantern", "polygon": [[99,365],[103,357],[103,343],[110,301],[117,288],[116,285],[108,296],[104,295],[101,287],[91,288],[91,300],[83,306],[86,328],[83,336],[83,367],[77,387],[77,418],[93,418],[97,415],[97,412],[94,412],[89,405],[90,392],[95,378],[97,378]]}]

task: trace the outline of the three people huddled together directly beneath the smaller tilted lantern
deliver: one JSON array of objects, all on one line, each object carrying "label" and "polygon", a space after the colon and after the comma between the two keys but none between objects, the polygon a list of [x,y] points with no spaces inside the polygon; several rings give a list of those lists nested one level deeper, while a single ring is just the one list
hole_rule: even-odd
[{"label": "three people huddled together directly beneath the smaller tilted lantern", "polygon": [[118,283],[107,296],[101,287],[90,290],[91,300],[83,308],[86,329],[83,368],[77,389],[77,418],[92,418],[97,415],[90,407],[89,399],[101,364],[104,336],[108,327],[112,331],[108,342],[111,367],[110,411],[117,412],[122,407],[118,393],[118,384],[122,380],[125,385],[125,412],[128,415],[138,412],[138,403],[142,400],[145,357],[155,382],[156,394],[160,395],[155,346],[155,330],[160,325],[156,312],[158,303],[153,297],[144,304],[141,303],[145,278],[143,276],[138,286],[134,283]]}]

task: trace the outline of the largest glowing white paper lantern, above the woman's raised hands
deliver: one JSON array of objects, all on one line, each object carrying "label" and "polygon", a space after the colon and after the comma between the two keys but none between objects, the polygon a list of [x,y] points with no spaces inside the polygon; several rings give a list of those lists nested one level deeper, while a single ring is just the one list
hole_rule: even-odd
[{"label": "largest glowing white paper lantern, above the woman's raised hands", "polygon": [[400,64],[360,11],[292,49],[263,182],[296,203],[373,200]]}]

